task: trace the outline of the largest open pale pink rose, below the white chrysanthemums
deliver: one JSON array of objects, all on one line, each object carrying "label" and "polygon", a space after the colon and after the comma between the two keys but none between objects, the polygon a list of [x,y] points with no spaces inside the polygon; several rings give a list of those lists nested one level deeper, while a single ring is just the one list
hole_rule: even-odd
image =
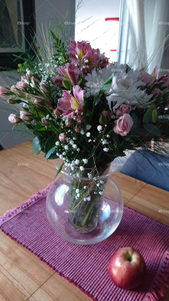
[{"label": "largest open pale pink rose, below the white chrysanthemums", "polygon": [[114,132],[121,136],[126,136],[133,125],[133,119],[127,113],[124,113],[118,120],[115,121],[116,125],[114,127]]}]

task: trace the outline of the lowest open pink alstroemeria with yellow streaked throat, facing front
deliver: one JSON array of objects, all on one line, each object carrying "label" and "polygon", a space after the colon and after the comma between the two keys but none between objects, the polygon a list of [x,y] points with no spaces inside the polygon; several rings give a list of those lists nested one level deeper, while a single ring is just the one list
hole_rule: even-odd
[{"label": "lowest open pink alstroemeria with yellow streaked throat, facing front", "polygon": [[62,112],[63,116],[74,117],[83,112],[83,90],[79,86],[74,86],[73,95],[63,90],[63,98],[58,99],[57,109]]}]

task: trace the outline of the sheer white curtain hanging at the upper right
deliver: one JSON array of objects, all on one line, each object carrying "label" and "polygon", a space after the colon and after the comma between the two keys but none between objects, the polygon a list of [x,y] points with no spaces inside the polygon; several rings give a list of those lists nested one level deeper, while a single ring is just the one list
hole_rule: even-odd
[{"label": "sheer white curtain hanging at the upper right", "polygon": [[[150,73],[155,66],[162,68],[169,42],[165,41],[169,33],[169,1],[123,0],[120,24],[120,63],[126,61],[134,68],[146,68]],[[165,66],[168,63],[169,60]]]}]

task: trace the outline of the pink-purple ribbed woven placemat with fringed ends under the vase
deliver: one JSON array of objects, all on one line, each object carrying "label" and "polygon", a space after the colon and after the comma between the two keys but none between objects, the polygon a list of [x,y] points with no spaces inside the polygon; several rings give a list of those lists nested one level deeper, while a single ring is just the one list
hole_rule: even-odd
[{"label": "pink-purple ribbed woven placemat with fringed ends under the vase", "polygon": [[[169,228],[125,207],[111,237],[101,243],[71,244],[51,228],[45,211],[49,186],[0,217],[1,230],[46,262],[95,301],[158,301],[169,287]],[[143,255],[148,273],[137,290],[116,287],[107,273],[111,254],[133,247]]]}]

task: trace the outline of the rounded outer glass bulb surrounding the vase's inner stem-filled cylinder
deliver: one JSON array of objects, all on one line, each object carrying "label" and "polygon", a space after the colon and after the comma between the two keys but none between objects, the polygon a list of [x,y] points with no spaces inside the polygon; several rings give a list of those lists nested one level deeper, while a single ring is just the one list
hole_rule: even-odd
[{"label": "rounded outer glass bulb surrounding the vase's inner stem-filled cylinder", "polygon": [[[69,186],[54,182],[47,195],[46,212],[52,228],[63,239],[82,245],[96,244],[109,237],[118,227],[123,207],[116,200],[102,198],[100,213],[95,228],[79,228],[69,219]],[[76,217],[77,218],[77,217]]]}]

